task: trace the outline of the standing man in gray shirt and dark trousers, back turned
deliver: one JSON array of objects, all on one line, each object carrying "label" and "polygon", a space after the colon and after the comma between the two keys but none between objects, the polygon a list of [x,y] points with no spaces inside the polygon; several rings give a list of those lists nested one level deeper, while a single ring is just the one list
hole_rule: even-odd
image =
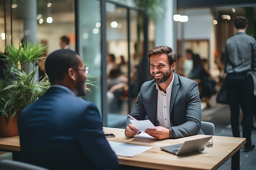
[{"label": "standing man in gray shirt and dark trousers, back turned", "polygon": [[243,111],[241,121],[243,137],[246,144],[241,149],[249,152],[255,148],[252,144],[253,129],[253,80],[252,69],[256,69],[256,40],[245,33],[248,21],[243,16],[236,16],[234,25],[237,29],[236,35],[230,37],[225,46],[225,72],[227,73],[227,97],[231,110],[231,127],[234,137],[240,137],[239,115],[240,107]]}]

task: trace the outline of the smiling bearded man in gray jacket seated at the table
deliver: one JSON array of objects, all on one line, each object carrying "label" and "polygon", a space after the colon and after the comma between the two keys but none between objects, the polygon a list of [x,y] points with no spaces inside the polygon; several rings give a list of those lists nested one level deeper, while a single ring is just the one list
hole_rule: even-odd
[{"label": "smiling bearded man in gray jacket seated at the table", "polygon": [[[142,84],[130,116],[146,117],[156,126],[145,132],[156,139],[176,139],[203,134],[198,84],[174,73],[175,52],[168,46],[157,46],[148,52],[153,80]],[[126,120],[126,135],[134,137],[139,130]]]}]

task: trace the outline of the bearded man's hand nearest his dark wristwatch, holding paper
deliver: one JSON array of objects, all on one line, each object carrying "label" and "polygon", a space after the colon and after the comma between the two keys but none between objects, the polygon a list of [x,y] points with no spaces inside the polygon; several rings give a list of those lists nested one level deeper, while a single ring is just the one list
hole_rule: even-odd
[{"label": "bearded man's hand nearest his dark wristwatch, holding paper", "polygon": [[159,140],[170,138],[170,130],[168,128],[164,128],[162,126],[155,127],[157,129],[146,129],[145,133]]}]

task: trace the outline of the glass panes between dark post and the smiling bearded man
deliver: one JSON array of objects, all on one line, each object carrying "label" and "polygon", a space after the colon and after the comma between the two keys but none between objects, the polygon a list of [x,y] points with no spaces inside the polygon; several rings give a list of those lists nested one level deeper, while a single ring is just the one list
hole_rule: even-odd
[{"label": "glass panes between dark post and the smiling bearded man", "polygon": [[108,126],[124,124],[143,81],[142,13],[106,3]]}]

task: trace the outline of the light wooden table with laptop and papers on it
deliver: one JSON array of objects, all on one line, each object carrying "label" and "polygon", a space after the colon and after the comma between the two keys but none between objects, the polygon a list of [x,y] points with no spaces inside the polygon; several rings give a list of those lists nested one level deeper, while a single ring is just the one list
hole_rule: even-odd
[{"label": "light wooden table with laptop and papers on it", "polygon": [[[180,144],[186,140],[198,139],[205,135],[194,135],[180,139],[135,139],[126,137],[124,129],[103,128],[105,133],[114,133],[115,138],[108,141],[128,144],[152,146],[153,148],[134,157],[121,157],[119,164],[157,170],[216,170],[231,158],[232,170],[240,169],[240,148],[245,144],[245,138],[213,136],[213,147],[205,148],[200,154],[186,154],[176,156],[160,149],[161,146]],[[16,137],[0,137],[0,150],[20,151],[20,139]]]}]

